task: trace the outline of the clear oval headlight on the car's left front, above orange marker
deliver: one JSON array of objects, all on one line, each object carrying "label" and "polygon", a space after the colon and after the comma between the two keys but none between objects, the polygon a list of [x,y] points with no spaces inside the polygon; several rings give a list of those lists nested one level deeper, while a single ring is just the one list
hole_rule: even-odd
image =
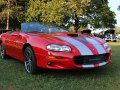
[{"label": "clear oval headlight on the car's left front, above orange marker", "polygon": [[61,46],[61,45],[57,45],[57,44],[50,44],[47,45],[47,50],[50,51],[58,51],[58,52],[70,52],[71,48],[69,46]]}]

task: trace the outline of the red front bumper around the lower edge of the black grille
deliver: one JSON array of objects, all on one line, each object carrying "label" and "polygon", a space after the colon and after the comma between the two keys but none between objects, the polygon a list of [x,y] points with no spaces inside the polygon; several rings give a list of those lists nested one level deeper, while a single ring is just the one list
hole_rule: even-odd
[{"label": "red front bumper around the lower edge of the black grille", "polygon": [[[37,55],[40,59],[43,55]],[[75,64],[74,56],[66,55],[61,56],[44,56],[41,60],[37,60],[37,66],[46,69],[84,69],[84,68],[97,68],[110,63],[111,53],[108,54],[108,58],[105,61],[99,63],[90,64]]]}]

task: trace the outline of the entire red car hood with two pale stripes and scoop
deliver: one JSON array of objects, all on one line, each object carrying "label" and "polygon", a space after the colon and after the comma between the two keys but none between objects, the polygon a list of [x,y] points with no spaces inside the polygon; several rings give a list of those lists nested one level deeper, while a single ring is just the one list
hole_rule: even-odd
[{"label": "entire red car hood with two pale stripes and scoop", "polygon": [[[30,35],[40,38],[48,44],[67,45],[72,51],[78,51],[81,55],[97,55],[108,53],[104,48],[104,41],[91,35],[82,35],[77,33],[30,33]],[[74,52],[76,53],[76,52]]]}]

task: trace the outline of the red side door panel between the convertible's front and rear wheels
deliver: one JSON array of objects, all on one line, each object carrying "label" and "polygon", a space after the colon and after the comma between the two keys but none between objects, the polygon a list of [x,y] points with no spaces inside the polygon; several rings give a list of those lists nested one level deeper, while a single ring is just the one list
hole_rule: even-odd
[{"label": "red side door panel between the convertible's front and rear wheels", "polygon": [[11,33],[6,39],[6,49],[10,56],[20,59],[23,57],[22,47],[24,40],[20,32]]}]

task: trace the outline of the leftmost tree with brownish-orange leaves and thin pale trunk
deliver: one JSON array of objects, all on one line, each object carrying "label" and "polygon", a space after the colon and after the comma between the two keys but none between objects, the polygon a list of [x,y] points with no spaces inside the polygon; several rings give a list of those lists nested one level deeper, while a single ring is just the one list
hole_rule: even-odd
[{"label": "leftmost tree with brownish-orange leaves and thin pale trunk", "polygon": [[17,18],[19,15],[20,6],[16,0],[0,0],[0,20],[6,20],[6,29],[9,29],[10,18]]}]

